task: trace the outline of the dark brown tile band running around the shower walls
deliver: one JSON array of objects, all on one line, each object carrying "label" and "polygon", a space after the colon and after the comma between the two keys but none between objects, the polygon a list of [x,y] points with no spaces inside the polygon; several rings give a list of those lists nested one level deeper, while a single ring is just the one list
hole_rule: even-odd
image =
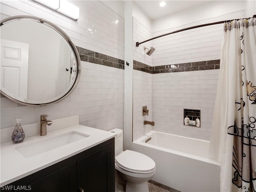
[{"label": "dark brown tile band running around the shower walls", "polygon": [[151,67],[144,63],[133,60],[133,69],[143,71],[146,73],[151,73],[151,74],[184,72],[184,71],[200,71],[200,70],[210,70],[210,69],[219,69],[219,68],[220,68],[220,60],[161,65],[161,66],[154,66],[154,67]]}]

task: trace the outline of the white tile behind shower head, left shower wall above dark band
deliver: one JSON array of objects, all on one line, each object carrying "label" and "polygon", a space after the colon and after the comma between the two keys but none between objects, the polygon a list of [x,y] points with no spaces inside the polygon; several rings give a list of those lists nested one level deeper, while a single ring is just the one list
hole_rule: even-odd
[{"label": "white tile behind shower head, left shower wall above dark band", "polygon": [[152,46],[152,41],[148,41],[141,44],[139,47],[136,47],[136,42],[142,42],[150,38],[152,38],[150,30],[142,25],[136,18],[133,18],[133,59],[152,66],[152,55],[147,55],[147,50],[144,50],[144,46],[148,49]]}]

